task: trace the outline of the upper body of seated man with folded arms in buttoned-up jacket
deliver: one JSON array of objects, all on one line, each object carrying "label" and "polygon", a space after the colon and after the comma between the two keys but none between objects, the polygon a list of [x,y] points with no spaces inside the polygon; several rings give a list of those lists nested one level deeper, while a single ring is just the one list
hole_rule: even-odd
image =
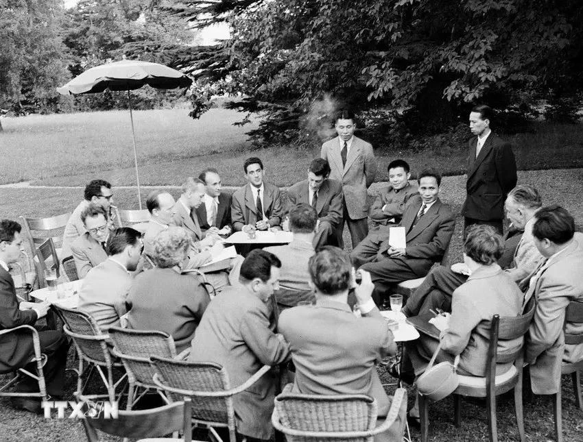
[{"label": "upper body of seated man with folded arms in buttoned-up jacket", "polygon": [[[390,186],[381,188],[370,207],[368,217],[372,221],[372,230],[388,232],[385,226],[397,225],[401,222],[405,206],[409,201],[419,198],[416,184],[409,183],[411,173],[405,160],[393,160],[389,163]],[[365,240],[366,241],[366,240]]]}]

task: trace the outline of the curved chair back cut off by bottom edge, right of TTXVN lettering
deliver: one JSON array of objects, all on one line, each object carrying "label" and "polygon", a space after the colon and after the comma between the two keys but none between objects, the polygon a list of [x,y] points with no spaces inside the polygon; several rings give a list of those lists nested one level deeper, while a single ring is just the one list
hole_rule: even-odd
[{"label": "curved chair back cut off by bottom edge, right of TTXVN lettering", "polygon": [[[192,432],[189,416],[191,414],[190,400],[175,402],[148,410],[123,411],[119,410],[117,419],[106,419],[104,416],[82,419],[88,442],[99,442],[97,431],[126,438],[142,438],[138,442],[178,441],[190,442]],[[150,439],[160,437],[171,432],[184,431],[184,439]]]}]

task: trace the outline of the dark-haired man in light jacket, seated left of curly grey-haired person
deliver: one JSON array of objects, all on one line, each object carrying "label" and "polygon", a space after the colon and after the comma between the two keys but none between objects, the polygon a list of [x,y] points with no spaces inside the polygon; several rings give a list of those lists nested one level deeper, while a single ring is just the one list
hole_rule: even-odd
[{"label": "dark-haired man in light jacket, seated left of curly grey-haired person", "polygon": [[144,244],[141,232],[129,227],[111,232],[107,240],[109,258],[93,267],[79,291],[79,310],[88,313],[102,330],[119,327],[128,312],[126,297],[138,267]]}]

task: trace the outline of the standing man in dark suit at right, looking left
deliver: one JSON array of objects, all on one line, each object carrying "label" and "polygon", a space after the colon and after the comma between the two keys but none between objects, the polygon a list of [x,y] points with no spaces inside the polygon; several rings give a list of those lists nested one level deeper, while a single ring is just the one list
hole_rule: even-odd
[{"label": "standing man in dark suit at right, looking left", "polygon": [[490,130],[493,116],[492,108],[483,104],[470,112],[470,130],[475,136],[468,155],[464,231],[468,225],[486,224],[502,234],[504,201],[516,186],[514,154],[510,143]]}]

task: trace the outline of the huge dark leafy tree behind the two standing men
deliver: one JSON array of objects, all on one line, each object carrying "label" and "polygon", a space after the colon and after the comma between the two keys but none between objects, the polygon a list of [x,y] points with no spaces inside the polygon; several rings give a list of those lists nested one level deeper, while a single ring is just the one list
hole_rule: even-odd
[{"label": "huge dark leafy tree behind the two standing men", "polygon": [[[242,93],[232,107],[263,113],[250,132],[259,140],[305,139],[313,125],[302,121],[342,105],[370,132],[397,123],[436,132],[477,101],[524,116],[540,99],[583,90],[579,0],[180,1],[174,11],[232,26],[228,42],[208,48],[219,71],[203,69],[198,83]],[[200,53],[194,66],[204,66]]]}]

